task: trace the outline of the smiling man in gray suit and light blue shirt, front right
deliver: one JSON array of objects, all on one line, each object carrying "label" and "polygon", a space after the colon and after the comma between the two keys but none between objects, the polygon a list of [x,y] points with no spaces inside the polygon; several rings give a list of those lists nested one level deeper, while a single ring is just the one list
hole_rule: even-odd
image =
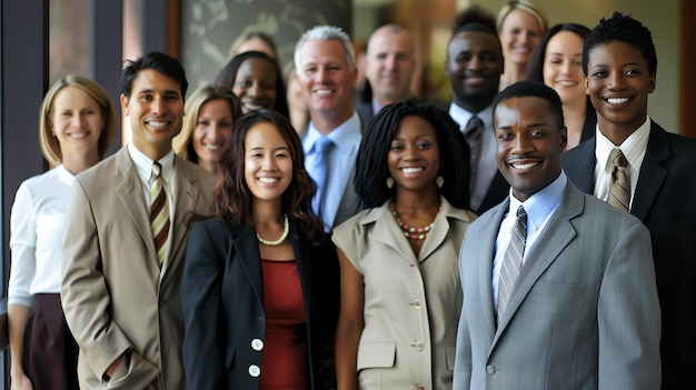
[{"label": "smiling man in gray suit and light blue shirt, front right", "polygon": [[515,83],[493,112],[511,190],[469,227],[459,253],[454,388],[659,389],[648,230],[567,180],[553,89]]}]

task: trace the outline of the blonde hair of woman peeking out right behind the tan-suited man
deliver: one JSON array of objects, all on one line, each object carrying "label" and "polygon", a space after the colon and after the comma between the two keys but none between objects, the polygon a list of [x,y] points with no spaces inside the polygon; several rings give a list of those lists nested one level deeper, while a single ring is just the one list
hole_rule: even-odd
[{"label": "blonde hair of woman peeking out right behind the tan-suited man", "polygon": [[179,134],[171,141],[172,149],[179,157],[193,163],[198,163],[198,156],[196,154],[193,143],[191,142],[193,139],[196,123],[198,123],[198,113],[205,103],[218,99],[225,100],[229,103],[230,112],[232,113],[232,122],[241,117],[241,103],[229,88],[213,84],[202,86],[186,100],[181,132],[179,132]]}]

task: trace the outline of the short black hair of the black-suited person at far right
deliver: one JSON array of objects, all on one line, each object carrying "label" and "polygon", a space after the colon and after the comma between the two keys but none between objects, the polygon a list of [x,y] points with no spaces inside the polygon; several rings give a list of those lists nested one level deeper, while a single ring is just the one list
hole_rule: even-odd
[{"label": "short black hair of the black-suited person at far right", "polygon": [[585,74],[587,74],[589,51],[598,44],[613,41],[628,43],[640,50],[643,58],[648,63],[650,74],[657,72],[657,53],[650,30],[629,16],[614,12],[609,19],[601,18],[599,24],[585,38],[585,46],[583,47],[583,72]]}]

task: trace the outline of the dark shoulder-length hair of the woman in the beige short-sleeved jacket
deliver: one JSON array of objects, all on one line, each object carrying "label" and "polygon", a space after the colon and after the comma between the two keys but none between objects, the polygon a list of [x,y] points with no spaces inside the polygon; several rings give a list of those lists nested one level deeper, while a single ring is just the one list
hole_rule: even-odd
[{"label": "dark shoulder-length hair of the woman in the beige short-sleeved jacket", "polygon": [[469,146],[459,126],[434,107],[414,100],[399,101],[382,108],[367,126],[356,161],[355,188],[365,208],[379,207],[394,196],[386,180],[389,177],[387,154],[405,117],[420,117],[432,124],[440,151],[440,172],[445,179],[439,192],[454,207],[469,207]]}]

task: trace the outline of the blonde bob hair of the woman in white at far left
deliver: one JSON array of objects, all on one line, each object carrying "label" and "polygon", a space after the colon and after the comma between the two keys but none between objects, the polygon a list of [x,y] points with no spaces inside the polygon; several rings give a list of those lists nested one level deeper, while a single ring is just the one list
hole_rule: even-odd
[{"label": "blonde bob hair of the woman in white at far left", "polygon": [[53,101],[56,100],[56,96],[58,96],[58,92],[66,87],[80,89],[84,93],[89,94],[90,98],[95,99],[99,106],[99,110],[101,111],[103,119],[103,129],[101,129],[99,142],[97,144],[100,160],[107,153],[107,150],[113,141],[117,131],[113,104],[103,88],[89,78],[79,74],[68,74],[58,79],[48,92],[46,92],[43,102],[41,103],[41,113],[39,116],[39,141],[41,143],[41,152],[51,168],[60,166],[63,160],[63,156],[60,150],[60,142],[58,142],[58,138],[53,136],[53,131],[51,130],[51,119],[54,113]]}]

